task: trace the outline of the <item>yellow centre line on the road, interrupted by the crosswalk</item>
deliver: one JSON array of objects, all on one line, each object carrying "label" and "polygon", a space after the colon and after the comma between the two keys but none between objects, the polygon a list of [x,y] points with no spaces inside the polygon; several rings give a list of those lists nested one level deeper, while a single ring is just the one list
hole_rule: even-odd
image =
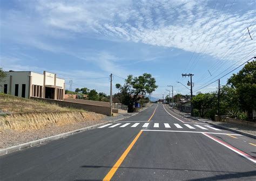
[{"label": "yellow centre line on the road, interrupted by the crosswalk", "polygon": [[[158,107],[158,105],[157,105]],[[154,109],[153,114],[151,115],[150,119],[148,120],[148,122],[152,119],[154,113],[156,113],[156,109],[157,107]],[[133,145],[137,142],[137,140],[139,139],[139,136],[142,134],[142,130],[139,131],[138,135],[133,139],[133,141],[131,142],[131,144],[129,145],[129,147],[126,148],[126,150],[123,152],[122,156],[120,156],[120,158],[118,159],[118,161],[114,164],[114,166],[111,168],[111,170],[107,173],[107,175],[103,178],[103,181],[107,181],[107,180],[111,180],[111,178],[114,176],[114,173],[116,173],[117,169],[119,168],[119,166],[123,163],[125,157],[129,154],[129,152],[131,151]]]}]

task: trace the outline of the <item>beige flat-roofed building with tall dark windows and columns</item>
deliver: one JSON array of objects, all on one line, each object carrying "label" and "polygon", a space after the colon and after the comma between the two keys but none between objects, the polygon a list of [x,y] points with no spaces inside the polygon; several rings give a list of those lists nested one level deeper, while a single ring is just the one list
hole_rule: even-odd
[{"label": "beige flat-roofed building with tall dark windows and columns", "polygon": [[22,98],[46,98],[63,100],[65,95],[65,80],[56,77],[56,74],[43,74],[31,71],[5,72],[6,78],[0,82],[0,92]]}]

